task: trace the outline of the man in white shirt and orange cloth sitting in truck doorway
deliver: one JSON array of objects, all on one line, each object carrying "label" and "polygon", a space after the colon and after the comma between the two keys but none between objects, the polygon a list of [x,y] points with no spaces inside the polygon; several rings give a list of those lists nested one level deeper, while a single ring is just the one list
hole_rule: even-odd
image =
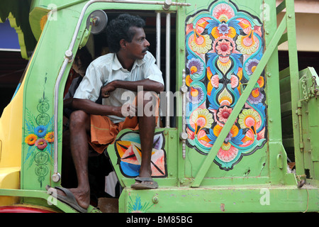
[{"label": "man in white shirt and orange cloth sitting in truck doorway", "polygon": [[[78,211],[86,212],[90,203],[88,142],[97,153],[103,153],[123,128],[140,132],[140,174],[131,187],[158,187],[157,182],[152,180],[150,166],[157,121],[155,115],[158,111],[152,108],[153,114],[149,114],[144,107],[154,100],[159,104],[157,94],[164,90],[164,82],[162,72],[155,65],[155,57],[147,51],[150,43],[145,38],[144,26],[145,21],[142,18],[128,14],[122,14],[111,21],[106,28],[111,53],[91,62],[74,94],[72,106],[77,111],[71,114],[69,128],[78,187],[56,188],[57,199],[65,201]],[[142,91],[138,92],[140,86]],[[129,91],[135,94],[133,104],[122,99],[123,92]],[[96,104],[100,95],[103,98],[102,104]],[[147,100],[146,96],[150,98]],[[140,106],[142,111],[137,109]]]}]

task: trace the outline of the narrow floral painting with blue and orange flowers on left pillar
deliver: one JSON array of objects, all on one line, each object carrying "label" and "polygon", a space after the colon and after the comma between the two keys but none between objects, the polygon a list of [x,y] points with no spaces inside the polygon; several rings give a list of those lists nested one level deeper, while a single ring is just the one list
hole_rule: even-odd
[{"label": "narrow floral painting with blue and orange flowers on left pillar", "polygon": [[46,113],[49,107],[48,99],[43,93],[43,97],[38,100],[38,115],[34,116],[26,109],[24,146],[27,152],[23,163],[28,168],[34,165],[40,187],[43,186],[42,183],[49,174],[47,165],[52,164],[54,149],[53,117]]}]

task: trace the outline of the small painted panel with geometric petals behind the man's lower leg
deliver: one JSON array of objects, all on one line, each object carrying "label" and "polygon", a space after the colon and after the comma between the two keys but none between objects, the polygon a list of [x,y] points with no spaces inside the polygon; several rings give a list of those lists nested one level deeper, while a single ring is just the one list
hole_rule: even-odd
[{"label": "small painted panel with geometric petals behind the man's lower leg", "polygon": [[[151,157],[152,177],[167,177],[165,140],[162,132],[155,133]],[[125,177],[137,177],[141,163],[140,134],[127,132],[115,141],[121,172]]]}]

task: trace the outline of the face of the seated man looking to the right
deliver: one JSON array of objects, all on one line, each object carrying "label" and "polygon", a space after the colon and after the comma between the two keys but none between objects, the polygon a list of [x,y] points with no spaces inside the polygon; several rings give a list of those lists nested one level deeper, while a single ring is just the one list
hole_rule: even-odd
[{"label": "face of the seated man looking to the right", "polygon": [[148,47],[150,46],[150,43],[146,40],[144,29],[137,27],[131,27],[130,29],[135,31],[135,35],[132,42],[126,43],[128,56],[134,60],[143,59]]}]

